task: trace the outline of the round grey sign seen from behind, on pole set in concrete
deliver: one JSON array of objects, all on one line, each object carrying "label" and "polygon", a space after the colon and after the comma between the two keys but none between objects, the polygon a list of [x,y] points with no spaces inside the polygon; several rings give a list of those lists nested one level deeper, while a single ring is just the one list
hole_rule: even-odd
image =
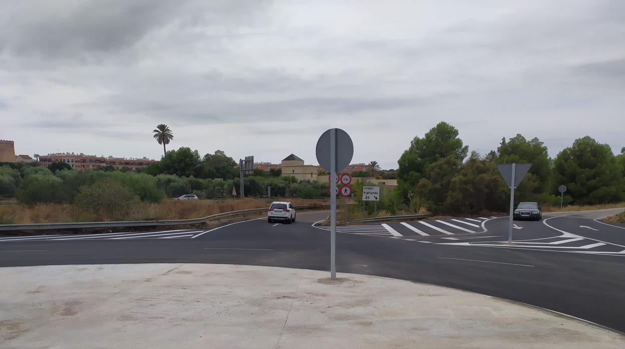
[{"label": "round grey sign seen from behind, on pole set in concrete", "polygon": [[[354,143],[341,129],[329,129],[317,140],[317,161],[336,178],[336,171],[344,169],[354,156]],[[337,192],[337,182],[330,180],[330,192]],[[330,195],[330,278],[336,280],[336,195]]]}]

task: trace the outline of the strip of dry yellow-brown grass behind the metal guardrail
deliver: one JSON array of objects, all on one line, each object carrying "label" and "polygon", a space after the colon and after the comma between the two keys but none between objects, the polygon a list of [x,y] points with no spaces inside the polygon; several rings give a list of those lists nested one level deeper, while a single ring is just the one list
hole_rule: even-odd
[{"label": "strip of dry yellow-brown grass behind the metal guardrail", "polygon": [[[321,200],[292,199],[298,205],[326,204]],[[232,201],[176,201],[167,200],[159,204],[141,204],[118,217],[109,220],[173,220],[205,217],[222,212],[261,209],[269,206],[264,200],[232,200]],[[0,205],[0,224],[33,224],[63,222],[97,222],[99,215],[75,205],[38,204],[33,207],[25,205]]]}]

